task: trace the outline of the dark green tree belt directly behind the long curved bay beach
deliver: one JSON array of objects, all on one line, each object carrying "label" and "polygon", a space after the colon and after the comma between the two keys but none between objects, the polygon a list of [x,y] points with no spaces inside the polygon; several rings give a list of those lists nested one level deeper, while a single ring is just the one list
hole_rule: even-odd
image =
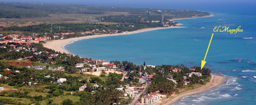
[{"label": "dark green tree belt directly behind the long curved bay beach", "polygon": [[[133,25],[134,27],[130,27]],[[60,27],[60,31],[59,31]],[[61,32],[85,32],[92,31],[94,29],[98,29],[100,31],[108,31],[108,30],[119,30],[120,32],[124,31],[136,31],[142,28],[155,28],[162,27],[160,23],[139,23],[139,24],[119,24],[119,25],[104,25],[104,24],[90,24],[90,23],[82,23],[82,24],[72,24],[72,23],[63,23],[63,24],[54,24],[53,32],[61,33]],[[3,31],[24,31],[30,33],[46,33],[50,32],[51,25],[40,24],[40,25],[30,25],[30,26],[10,26],[8,28],[3,28]]]}]

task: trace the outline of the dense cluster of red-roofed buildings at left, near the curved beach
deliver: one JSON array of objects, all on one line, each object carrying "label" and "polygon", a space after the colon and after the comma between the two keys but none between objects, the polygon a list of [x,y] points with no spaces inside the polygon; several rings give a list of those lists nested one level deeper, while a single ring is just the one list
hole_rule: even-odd
[{"label": "dense cluster of red-roofed buildings at left, near the curved beach", "polygon": [[39,41],[46,41],[51,39],[51,37],[35,37],[35,36],[25,36],[25,35],[17,35],[17,34],[11,34],[3,37],[5,39],[6,37],[12,38],[12,40],[3,40],[0,41],[0,43],[8,43],[8,42],[14,42],[14,43],[39,43]]}]

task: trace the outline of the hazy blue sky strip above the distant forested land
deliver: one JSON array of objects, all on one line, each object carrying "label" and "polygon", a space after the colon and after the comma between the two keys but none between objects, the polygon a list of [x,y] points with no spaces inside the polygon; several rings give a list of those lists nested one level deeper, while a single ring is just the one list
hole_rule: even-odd
[{"label": "hazy blue sky strip above the distant forested land", "polygon": [[222,6],[255,6],[256,0],[0,0],[0,2],[83,4],[141,8],[197,9]]}]

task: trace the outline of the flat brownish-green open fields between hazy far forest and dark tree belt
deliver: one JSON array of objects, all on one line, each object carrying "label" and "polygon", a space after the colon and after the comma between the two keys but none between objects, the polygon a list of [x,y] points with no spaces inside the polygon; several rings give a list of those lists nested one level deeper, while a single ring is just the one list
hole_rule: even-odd
[{"label": "flat brownish-green open fields between hazy far forest and dark tree belt", "polygon": [[24,19],[5,19],[0,18],[0,26],[29,26],[39,24],[58,24],[58,23],[98,23],[98,24],[118,24],[114,22],[85,21],[88,17],[97,17],[103,15],[131,15],[129,12],[105,12],[102,15],[93,14],[51,14],[43,18],[24,18]]}]

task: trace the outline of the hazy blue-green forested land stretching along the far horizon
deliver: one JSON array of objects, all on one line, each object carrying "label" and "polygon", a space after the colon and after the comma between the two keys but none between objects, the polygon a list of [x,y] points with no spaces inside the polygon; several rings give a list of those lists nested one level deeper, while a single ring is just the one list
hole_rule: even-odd
[{"label": "hazy blue-green forested land stretching along the far horizon", "polygon": [[[0,18],[47,17],[50,14],[104,14],[105,12],[129,12],[134,15],[168,14],[173,18],[210,15],[208,12],[177,9],[129,8],[115,6],[86,6],[37,3],[1,3]],[[167,15],[167,16],[168,16]]]}]

